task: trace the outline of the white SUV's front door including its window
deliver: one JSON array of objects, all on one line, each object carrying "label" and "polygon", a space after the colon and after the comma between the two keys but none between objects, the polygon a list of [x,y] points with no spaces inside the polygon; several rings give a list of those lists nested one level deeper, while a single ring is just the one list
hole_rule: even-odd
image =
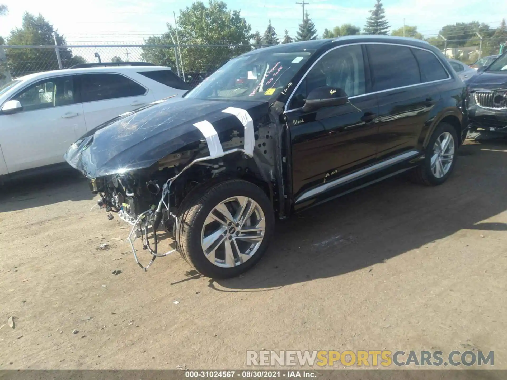
[{"label": "white SUV's front door including its window", "polygon": [[0,115],[0,142],[9,173],[64,162],[68,147],[86,133],[74,76],[34,83],[11,100],[23,109]]}]

